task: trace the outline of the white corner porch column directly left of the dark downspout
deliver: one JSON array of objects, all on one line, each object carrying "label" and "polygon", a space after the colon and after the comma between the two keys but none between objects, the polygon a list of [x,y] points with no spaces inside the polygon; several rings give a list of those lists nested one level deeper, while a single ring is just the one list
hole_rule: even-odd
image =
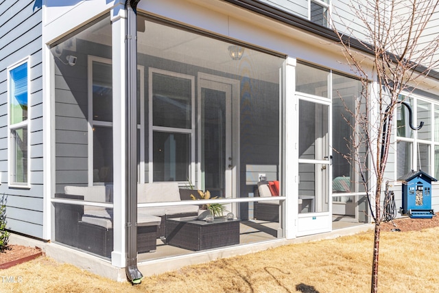
[{"label": "white corner porch column directly left of the dark downspout", "polygon": [[126,267],[126,10],[119,3],[111,11],[112,138],[113,138],[113,251],[111,263]]}]

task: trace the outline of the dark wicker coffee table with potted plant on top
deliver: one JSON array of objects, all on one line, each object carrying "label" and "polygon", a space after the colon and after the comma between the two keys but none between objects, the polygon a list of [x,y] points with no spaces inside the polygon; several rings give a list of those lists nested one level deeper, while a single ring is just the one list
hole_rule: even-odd
[{"label": "dark wicker coffee table with potted plant on top", "polygon": [[196,217],[166,220],[166,242],[189,250],[239,244],[239,221],[215,218],[211,223]]}]

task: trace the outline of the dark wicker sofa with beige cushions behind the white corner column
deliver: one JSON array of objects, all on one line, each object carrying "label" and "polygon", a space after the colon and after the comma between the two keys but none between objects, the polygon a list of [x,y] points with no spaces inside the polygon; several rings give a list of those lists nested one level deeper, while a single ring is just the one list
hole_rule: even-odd
[{"label": "dark wicker sofa with beige cushions behind the white corner column", "polygon": [[[64,194],[56,194],[55,197],[90,202],[109,202],[112,200],[112,186],[66,186]],[[57,242],[110,257],[113,249],[112,209],[56,203],[55,213],[55,239]],[[138,213],[137,218],[138,252],[155,251],[157,229],[161,218],[145,213]]]}]

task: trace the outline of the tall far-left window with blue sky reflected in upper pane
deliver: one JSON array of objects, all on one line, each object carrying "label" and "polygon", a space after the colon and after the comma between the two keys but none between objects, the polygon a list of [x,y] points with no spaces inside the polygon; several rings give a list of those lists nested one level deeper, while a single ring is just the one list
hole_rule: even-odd
[{"label": "tall far-left window with blue sky reflected in upper pane", "polygon": [[28,63],[19,63],[8,70],[10,185],[26,186],[29,182],[28,140]]}]

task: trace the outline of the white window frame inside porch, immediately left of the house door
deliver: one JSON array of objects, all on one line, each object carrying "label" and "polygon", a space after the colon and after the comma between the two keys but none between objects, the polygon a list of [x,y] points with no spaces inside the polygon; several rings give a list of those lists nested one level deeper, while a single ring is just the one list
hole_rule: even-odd
[{"label": "white window frame inside porch, immediately left of the house door", "polygon": [[[152,75],[154,73],[174,76],[176,78],[184,78],[186,80],[191,81],[191,128],[172,128],[172,127],[164,127],[164,126],[154,126],[152,122]],[[156,69],[150,67],[148,70],[148,126],[149,126],[149,138],[148,149],[149,149],[149,165],[148,165],[148,182],[154,182],[154,166],[153,166],[153,134],[154,131],[161,132],[172,132],[179,134],[189,134],[191,137],[191,153],[189,154],[189,180],[191,180],[192,184],[195,184],[195,77],[193,75],[187,75],[183,73],[177,73],[174,71],[167,71],[163,69]],[[178,185],[187,186],[189,184],[188,181],[178,181]]]}]

